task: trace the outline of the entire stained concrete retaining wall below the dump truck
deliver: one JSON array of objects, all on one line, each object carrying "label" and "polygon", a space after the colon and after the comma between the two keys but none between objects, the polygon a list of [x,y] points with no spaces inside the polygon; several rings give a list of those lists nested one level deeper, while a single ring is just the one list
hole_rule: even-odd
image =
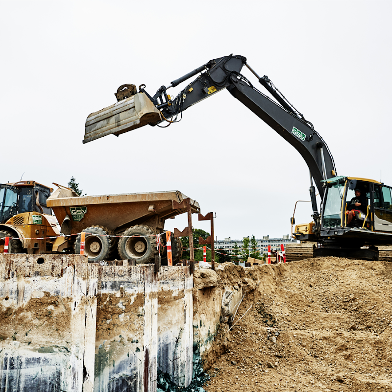
[{"label": "entire stained concrete retaining wall below the dump truck", "polygon": [[241,296],[205,274],[0,254],[0,391],[155,392],[157,369],[187,387]]}]

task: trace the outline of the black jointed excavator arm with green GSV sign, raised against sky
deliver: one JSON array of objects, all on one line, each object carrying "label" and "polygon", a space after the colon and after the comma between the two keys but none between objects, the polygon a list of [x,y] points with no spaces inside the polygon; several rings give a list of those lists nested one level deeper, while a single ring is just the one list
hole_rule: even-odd
[{"label": "black jointed excavator arm with green GSV sign, raised against sky", "polygon": [[[272,97],[274,97],[278,103],[257,90],[245,78],[245,76],[240,73],[244,65],[257,76],[258,81],[270,92]],[[196,79],[183,88],[175,98],[172,98],[168,94],[168,90],[170,88],[178,86],[180,83],[185,82],[198,73],[200,74],[196,77]],[[159,125],[166,121],[169,123],[176,122],[178,121],[178,116],[190,106],[223,89],[227,89],[233,97],[241,101],[260,119],[270,125],[272,129],[287,140],[301,154],[309,167],[311,177],[313,177],[316,182],[316,186],[321,197],[324,194],[321,181],[337,175],[332,155],[325,142],[314,129],[313,125],[306,121],[302,114],[296,111],[293,105],[291,105],[279,92],[279,90],[273,86],[267,76],[259,77],[247,65],[246,58],[243,56],[229,55],[210,60],[208,63],[194,71],[173,80],[169,86],[161,86],[154,96],[149,95],[145,90],[145,87],[145,85],[141,85],[139,87],[139,92],[148,97],[150,102],[153,104],[153,110],[156,111],[155,114],[159,114],[159,117],[151,117],[149,121],[147,120],[145,123],[150,125]],[[129,97],[131,94],[132,93],[123,94],[123,98],[125,98],[126,101],[132,101],[132,96]],[[121,104],[122,102],[123,101],[120,101],[113,105],[113,108],[106,108],[108,110],[102,109],[97,113],[106,113],[106,115],[113,113],[114,116],[119,116],[118,104]],[[137,105],[135,104],[135,107],[136,106]],[[97,117],[97,115],[93,113],[87,119],[86,136],[88,131],[87,123],[89,122],[89,119],[95,117]],[[131,124],[128,128],[124,128],[117,117],[116,126],[113,126],[112,131],[109,133],[114,133],[118,136],[124,131],[135,129],[145,123],[142,124],[141,121],[138,124]],[[94,137],[91,137],[93,134],[93,131],[91,131],[91,120],[89,126],[90,137],[88,140],[85,137],[84,142],[94,140]],[[118,129],[121,129],[121,131],[119,132]],[[102,134],[102,136],[104,135]],[[311,187],[313,187],[313,183],[311,183]],[[317,211],[314,191],[312,204],[313,210]]]}]

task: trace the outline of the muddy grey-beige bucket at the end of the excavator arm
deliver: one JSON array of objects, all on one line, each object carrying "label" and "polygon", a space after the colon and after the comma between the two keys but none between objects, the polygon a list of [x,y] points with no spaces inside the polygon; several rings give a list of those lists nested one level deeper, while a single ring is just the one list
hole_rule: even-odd
[{"label": "muddy grey-beige bucket at the end of the excavator arm", "polygon": [[160,121],[161,113],[146,94],[132,97],[91,113],[86,120],[83,143],[106,135],[121,135],[149,123]]}]

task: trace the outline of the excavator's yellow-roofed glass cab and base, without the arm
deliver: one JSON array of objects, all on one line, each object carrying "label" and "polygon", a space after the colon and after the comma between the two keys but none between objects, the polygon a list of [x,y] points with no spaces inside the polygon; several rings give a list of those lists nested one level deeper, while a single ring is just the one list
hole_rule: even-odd
[{"label": "excavator's yellow-roofed glass cab and base, without the arm", "polygon": [[[297,224],[293,237],[314,241],[314,257],[340,256],[378,259],[374,245],[392,241],[392,188],[381,182],[357,177],[333,177],[323,181],[324,197],[318,222]],[[354,207],[355,190],[361,206]],[[348,211],[354,217],[348,223]],[[319,229],[318,229],[319,227]]]}]

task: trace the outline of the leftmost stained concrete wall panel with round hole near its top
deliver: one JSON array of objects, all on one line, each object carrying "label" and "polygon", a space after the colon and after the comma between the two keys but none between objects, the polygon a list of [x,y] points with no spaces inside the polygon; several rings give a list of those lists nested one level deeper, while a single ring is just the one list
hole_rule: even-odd
[{"label": "leftmost stained concrete wall panel with round hole near its top", "polygon": [[83,256],[0,255],[1,391],[93,391],[96,298]]}]

